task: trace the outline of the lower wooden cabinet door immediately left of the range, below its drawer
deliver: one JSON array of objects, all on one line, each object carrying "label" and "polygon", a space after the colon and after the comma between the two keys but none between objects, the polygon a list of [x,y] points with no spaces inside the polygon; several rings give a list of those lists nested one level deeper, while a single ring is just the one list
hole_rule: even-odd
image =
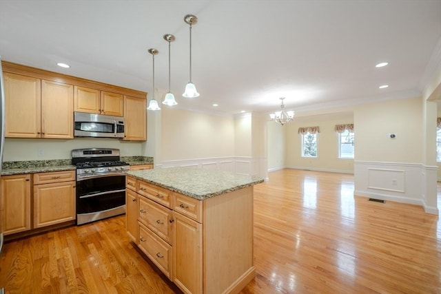
[{"label": "lower wooden cabinet door immediately left of the range, below its drawer", "polygon": [[34,185],[34,228],[75,220],[75,182]]}]

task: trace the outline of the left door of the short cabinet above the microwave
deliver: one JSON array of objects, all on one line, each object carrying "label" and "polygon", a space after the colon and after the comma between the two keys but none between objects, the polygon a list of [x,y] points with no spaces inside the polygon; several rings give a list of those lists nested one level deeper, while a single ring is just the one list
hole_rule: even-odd
[{"label": "left door of the short cabinet above the microwave", "polygon": [[74,86],[74,110],[100,114],[100,91],[88,87]]}]

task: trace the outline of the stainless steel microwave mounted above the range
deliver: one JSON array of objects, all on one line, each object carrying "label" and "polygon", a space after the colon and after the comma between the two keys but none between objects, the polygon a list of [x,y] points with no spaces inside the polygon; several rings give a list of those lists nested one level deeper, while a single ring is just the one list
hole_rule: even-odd
[{"label": "stainless steel microwave mounted above the range", "polygon": [[124,138],[124,118],[121,116],[74,112],[74,136]]}]

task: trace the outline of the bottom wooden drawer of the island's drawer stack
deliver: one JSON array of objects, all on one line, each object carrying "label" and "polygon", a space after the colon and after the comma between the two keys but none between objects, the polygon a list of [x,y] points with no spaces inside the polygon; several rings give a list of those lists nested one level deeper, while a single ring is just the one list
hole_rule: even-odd
[{"label": "bottom wooden drawer of the island's drawer stack", "polygon": [[172,246],[139,224],[139,248],[172,280]]}]

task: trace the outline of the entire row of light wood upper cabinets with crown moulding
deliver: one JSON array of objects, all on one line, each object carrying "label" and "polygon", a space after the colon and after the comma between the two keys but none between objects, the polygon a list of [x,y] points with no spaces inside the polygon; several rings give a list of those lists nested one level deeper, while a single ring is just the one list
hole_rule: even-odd
[{"label": "entire row of light wood upper cabinets with crown moulding", "polygon": [[74,111],[124,116],[124,140],[146,140],[146,92],[1,62],[7,138],[73,138]]}]

